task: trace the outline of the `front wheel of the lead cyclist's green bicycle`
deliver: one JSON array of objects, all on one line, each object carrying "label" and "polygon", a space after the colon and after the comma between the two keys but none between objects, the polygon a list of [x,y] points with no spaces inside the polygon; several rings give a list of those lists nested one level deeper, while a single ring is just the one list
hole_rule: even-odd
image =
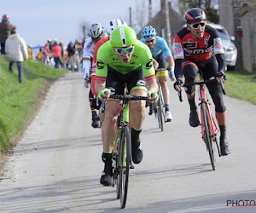
[{"label": "front wheel of the lead cyclist's green bicycle", "polygon": [[128,193],[128,181],[129,170],[131,162],[131,134],[128,126],[124,127],[121,134],[121,141],[119,143],[119,199],[121,208],[125,208],[127,193]]}]

